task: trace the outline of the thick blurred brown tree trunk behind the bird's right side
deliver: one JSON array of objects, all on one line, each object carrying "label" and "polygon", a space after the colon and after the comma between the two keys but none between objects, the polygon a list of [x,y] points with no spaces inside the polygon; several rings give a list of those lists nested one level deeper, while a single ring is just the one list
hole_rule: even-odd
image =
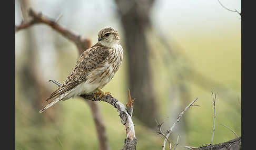
[{"label": "thick blurred brown tree trunk behind the bird's right side", "polygon": [[155,127],[157,111],[145,35],[145,30],[150,26],[149,12],[153,1],[116,1],[116,4],[125,33],[129,87],[137,100],[134,116],[147,126]]}]

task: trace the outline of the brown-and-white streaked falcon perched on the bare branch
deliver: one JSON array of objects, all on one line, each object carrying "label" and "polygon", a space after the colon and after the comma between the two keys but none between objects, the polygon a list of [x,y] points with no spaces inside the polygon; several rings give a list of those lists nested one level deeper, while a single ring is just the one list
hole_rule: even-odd
[{"label": "brown-and-white streaked falcon perched on the bare branch", "polygon": [[111,95],[101,89],[110,82],[123,60],[123,48],[117,30],[106,27],[99,31],[98,42],[86,49],[76,61],[76,65],[66,78],[46,99],[52,100],[39,113],[44,112],[59,101],[65,101],[81,94],[94,93],[94,97]]}]

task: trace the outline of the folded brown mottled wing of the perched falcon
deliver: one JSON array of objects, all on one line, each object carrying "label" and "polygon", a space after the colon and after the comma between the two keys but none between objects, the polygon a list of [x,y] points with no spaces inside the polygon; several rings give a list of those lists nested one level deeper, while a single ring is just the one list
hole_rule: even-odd
[{"label": "folded brown mottled wing of the perched falcon", "polygon": [[76,61],[75,68],[72,70],[65,82],[55,90],[46,101],[55,98],[86,81],[87,74],[104,63],[109,55],[110,49],[102,46],[100,42],[85,50]]}]

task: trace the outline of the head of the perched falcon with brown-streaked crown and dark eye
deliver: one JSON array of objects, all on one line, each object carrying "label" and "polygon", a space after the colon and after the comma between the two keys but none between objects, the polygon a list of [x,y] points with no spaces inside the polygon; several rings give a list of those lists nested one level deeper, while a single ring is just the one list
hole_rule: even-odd
[{"label": "head of the perched falcon with brown-streaked crown and dark eye", "polygon": [[119,35],[113,28],[104,28],[98,33],[98,40],[101,45],[106,47],[115,47],[119,43]]}]

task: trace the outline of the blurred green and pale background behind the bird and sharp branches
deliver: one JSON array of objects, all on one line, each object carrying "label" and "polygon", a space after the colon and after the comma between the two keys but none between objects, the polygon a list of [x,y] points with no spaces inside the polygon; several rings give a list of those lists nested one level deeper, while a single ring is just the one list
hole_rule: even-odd
[{"label": "blurred green and pale background behind the bird and sharp branches", "polygon": [[[221,3],[241,12],[241,1]],[[217,93],[213,144],[235,138],[219,123],[241,136],[241,16],[214,1],[15,1],[15,24],[28,21],[28,8],[88,38],[94,45],[105,27],[119,31],[124,49],[122,65],[103,91],[122,103],[127,90],[135,98],[133,121],[137,149],[160,149],[164,138],[155,119],[168,130],[185,112],[170,140],[180,145],[210,143],[213,126],[211,92]],[[60,102],[39,114],[75,66],[78,51],[47,25],[34,25],[15,34],[16,149],[100,149],[92,111],[81,98]],[[96,102],[110,149],[123,147],[125,127],[113,106]]]}]

